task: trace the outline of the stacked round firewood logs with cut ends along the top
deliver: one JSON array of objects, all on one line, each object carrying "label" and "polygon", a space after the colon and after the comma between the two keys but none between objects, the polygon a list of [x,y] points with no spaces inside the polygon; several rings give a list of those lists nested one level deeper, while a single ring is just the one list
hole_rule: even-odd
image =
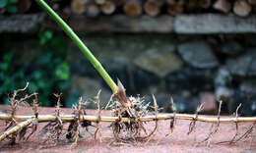
[{"label": "stacked round firewood logs with cut ends along the top", "polygon": [[[32,0],[19,0],[16,4],[18,13],[34,12],[33,3]],[[57,11],[87,17],[116,14],[157,17],[206,13],[248,17],[256,13],[256,0],[52,0],[49,3]],[[3,9],[0,9],[0,14],[3,13]]]}]

